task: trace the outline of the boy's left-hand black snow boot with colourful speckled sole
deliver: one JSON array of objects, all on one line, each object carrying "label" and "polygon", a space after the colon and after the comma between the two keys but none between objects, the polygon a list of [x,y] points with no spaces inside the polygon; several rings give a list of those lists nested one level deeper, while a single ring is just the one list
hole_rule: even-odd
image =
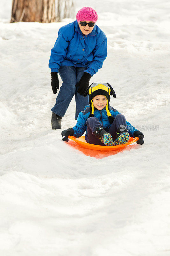
[{"label": "boy's left-hand black snow boot with colourful speckled sole", "polygon": [[97,139],[103,142],[105,146],[112,146],[114,143],[111,134],[106,132],[101,126],[96,128],[94,135]]}]

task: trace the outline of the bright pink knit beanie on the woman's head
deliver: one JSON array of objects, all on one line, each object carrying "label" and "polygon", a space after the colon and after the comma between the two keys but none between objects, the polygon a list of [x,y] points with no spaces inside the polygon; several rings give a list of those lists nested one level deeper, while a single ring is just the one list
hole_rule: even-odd
[{"label": "bright pink knit beanie on the woman's head", "polygon": [[98,19],[97,12],[91,7],[81,8],[76,15],[77,22],[82,20],[90,20],[96,23],[97,19]]}]

